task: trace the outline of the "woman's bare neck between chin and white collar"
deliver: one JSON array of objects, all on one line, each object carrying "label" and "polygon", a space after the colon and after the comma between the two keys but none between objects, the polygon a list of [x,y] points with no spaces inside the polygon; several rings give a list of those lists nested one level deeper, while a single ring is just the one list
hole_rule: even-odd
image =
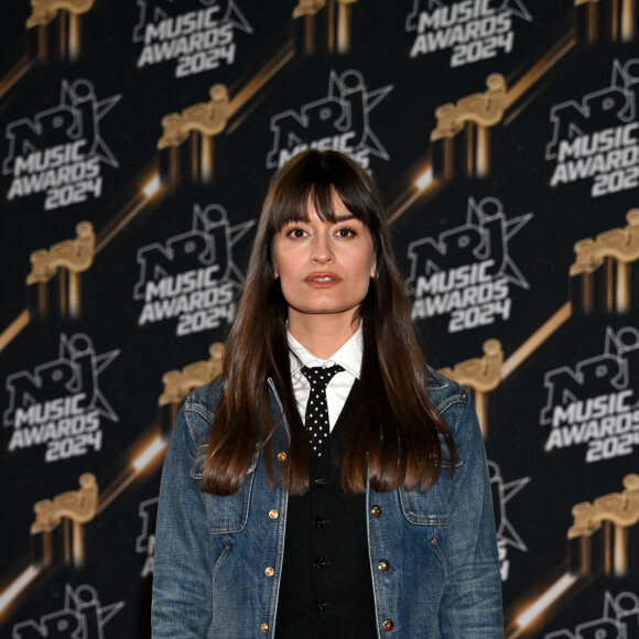
[{"label": "woman's bare neck between chin and white collar", "polygon": [[359,320],[326,315],[289,314],[289,332],[310,353],[321,359],[328,359],[346,344],[359,326]]}]

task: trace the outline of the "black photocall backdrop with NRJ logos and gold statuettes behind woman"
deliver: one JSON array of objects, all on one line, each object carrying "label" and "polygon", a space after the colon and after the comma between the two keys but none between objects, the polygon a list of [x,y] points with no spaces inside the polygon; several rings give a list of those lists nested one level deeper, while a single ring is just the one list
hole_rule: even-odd
[{"label": "black photocall backdrop with NRJ logos and gold statuettes behind woman", "polygon": [[173,420],[311,147],[377,180],[429,361],[476,402],[506,636],[638,639],[638,12],[3,2],[1,636],[150,636]]}]

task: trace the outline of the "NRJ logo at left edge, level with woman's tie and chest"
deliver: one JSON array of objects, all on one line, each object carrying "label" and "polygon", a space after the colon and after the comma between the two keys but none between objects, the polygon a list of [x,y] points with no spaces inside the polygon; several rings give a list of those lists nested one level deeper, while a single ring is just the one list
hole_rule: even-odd
[{"label": "NRJ logo at left edge, level with woman's tie and chest", "polygon": [[44,445],[45,462],[86,455],[102,445],[102,419],[118,415],[98,387],[120,354],[97,355],[88,335],[61,335],[57,359],[7,378],[9,408],[2,419],[13,432],[8,451]]}]

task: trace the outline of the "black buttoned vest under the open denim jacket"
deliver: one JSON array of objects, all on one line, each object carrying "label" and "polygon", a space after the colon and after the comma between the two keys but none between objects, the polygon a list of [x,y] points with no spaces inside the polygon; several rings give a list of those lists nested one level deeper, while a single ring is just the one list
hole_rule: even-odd
[{"label": "black buttoned vest under the open denim jacket", "polygon": [[277,639],[377,637],[366,497],[345,495],[339,481],[357,386],[322,456],[306,446],[310,490],[289,497]]}]

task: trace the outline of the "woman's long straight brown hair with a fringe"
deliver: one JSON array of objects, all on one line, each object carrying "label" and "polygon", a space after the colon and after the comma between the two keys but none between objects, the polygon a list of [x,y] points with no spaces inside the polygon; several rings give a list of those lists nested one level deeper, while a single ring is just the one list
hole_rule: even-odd
[{"label": "woman's long straight brown hair with a fringe", "polygon": [[[454,467],[455,443],[425,390],[426,367],[377,187],[348,156],[306,151],[274,175],[264,199],[245,290],[226,342],[224,393],[204,466],[204,491],[229,495],[238,490],[257,446],[262,447],[271,485],[283,483],[291,495],[308,489],[306,435],[291,382],[288,306],[274,277],[272,245],[285,224],[307,220],[311,205],[321,219],[334,223],[335,194],[369,229],[376,253],[376,277],[358,310],[364,322],[361,392],[342,459],[344,489],[364,492],[367,476],[376,490],[401,485],[427,489],[442,468],[440,435]],[[288,473],[272,470],[270,438],[279,424],[271,416],[269,377],[278,388],[289,427]]]}]

